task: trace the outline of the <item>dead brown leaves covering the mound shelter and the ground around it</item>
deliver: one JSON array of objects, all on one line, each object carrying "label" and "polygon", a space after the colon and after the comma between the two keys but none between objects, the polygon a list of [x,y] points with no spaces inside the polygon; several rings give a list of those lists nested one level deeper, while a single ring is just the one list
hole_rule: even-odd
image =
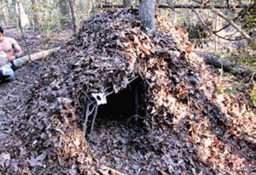
[{"label": "dead brown leaves covering the mound shelter and the ground around it", "polygon": [[[143,30],[134,8],[106,11],[58,53],[16,71],[0,87],[1,173],[255,173],[254,75],[228,91],[234,80],[193,53],[185,31],[160,16],[156,25]],[[96,117],[84,139],[94,94],[121,93],[138,78],[141,121]]]}]

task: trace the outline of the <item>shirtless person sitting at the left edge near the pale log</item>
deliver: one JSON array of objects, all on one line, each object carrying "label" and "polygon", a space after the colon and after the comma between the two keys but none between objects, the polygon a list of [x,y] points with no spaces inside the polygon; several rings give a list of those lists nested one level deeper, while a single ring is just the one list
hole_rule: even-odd
[{"label": "shirtless person sitting at the left edge near the pale log", "polygon": [[3,36],[3,27],[0,26],[0,84],[15,80],[14,59],[23,54],[20,45],[12,37]]}]

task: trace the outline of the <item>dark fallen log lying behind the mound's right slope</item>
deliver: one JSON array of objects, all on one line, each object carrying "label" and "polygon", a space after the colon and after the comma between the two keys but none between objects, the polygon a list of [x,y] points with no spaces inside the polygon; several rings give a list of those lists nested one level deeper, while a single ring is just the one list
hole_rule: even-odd
[{"label": "dark fallen log lying behind the mound's right slope", "polygon": [[[229,60],[220,60],[218,55],[209,54],[209,53],[197,53],[200,55],[207,65],[212,65],[218,69],[223,69],[223,71],[229,72],[234,76],[251,76],[254,72],[251,70],[247,70],[240,65],[236,65],[236,63],[231,62]],[[253,79],[256,77],[253,77]]]}]

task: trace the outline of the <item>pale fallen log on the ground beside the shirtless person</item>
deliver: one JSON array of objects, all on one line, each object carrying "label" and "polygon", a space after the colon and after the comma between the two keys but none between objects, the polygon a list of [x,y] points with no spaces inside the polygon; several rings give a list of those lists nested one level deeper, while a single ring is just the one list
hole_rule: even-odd
[{"label": "pale fallen log on the ground beside the shirtless person", "polygon": [[44,50],[44,51],[38,52],[36,54],[31,54],[30,55],[31,59],[29,59],[28,55],[20,57],[19,59],[15,59],[14,60],[14,64],[17,67],[21,67],[22,65],[25,65],[29,61],[35,61],[35,60],[38,60],[38,59],[44,59],[44,58],[48,57],[50,54],[53,54],[53,53],[57,52],[60,48],[61,47],[51,48],[49,50]]}]

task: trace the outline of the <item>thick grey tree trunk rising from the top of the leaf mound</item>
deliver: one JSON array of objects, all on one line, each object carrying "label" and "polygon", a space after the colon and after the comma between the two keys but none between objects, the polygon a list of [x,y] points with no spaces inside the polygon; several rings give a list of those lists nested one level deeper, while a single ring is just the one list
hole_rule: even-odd
[{"label": "thick grey tree trunk rising from the top of the leaf mound", "polygon": [[155,31],[153,0],[140,0],[139,18],[143,27],[148,28],[150,31]]}]

